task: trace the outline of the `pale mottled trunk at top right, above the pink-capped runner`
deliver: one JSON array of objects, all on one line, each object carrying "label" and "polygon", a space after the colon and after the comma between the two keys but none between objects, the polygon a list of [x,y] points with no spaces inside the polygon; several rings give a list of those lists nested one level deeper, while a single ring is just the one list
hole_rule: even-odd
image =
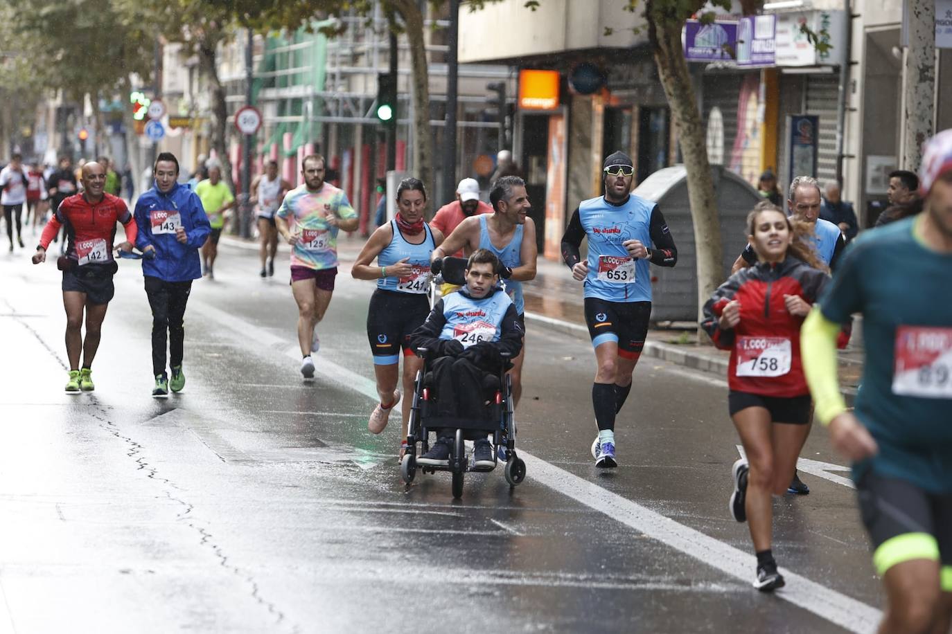
[{"label": "pale mottled trunk at top right, above the pink-capped runner", "polygon": [[922,163],[922,144],[932,136],[936,87],[936,12],[933,0],[910,0],[907,11],[909,47],[905,53],[905,143],[902,169]]}]

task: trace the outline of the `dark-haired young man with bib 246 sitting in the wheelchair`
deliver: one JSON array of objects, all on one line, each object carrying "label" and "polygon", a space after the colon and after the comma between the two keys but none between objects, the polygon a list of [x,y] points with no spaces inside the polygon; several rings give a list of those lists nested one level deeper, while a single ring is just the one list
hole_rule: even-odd
[{"label": "dark-haired young man with bib 246 sitting in the wheelchair", "polygon": [[[414,349],[426,348],[427,384],[438,417],[492,420],[492,404],[500,389],[501,369],[511,367],[525,336],[515,305],[499,286],[501,264],[486,249],[477,249],[466,263],[466,286],[436,302],[422,326],[411,336]],[[506,356],[504,356],[506,353]],[[421,465],[446,466],[455,430],[441,429]],[[492,469],[495,461],[487,434],[477,432],[473,467]]]}]

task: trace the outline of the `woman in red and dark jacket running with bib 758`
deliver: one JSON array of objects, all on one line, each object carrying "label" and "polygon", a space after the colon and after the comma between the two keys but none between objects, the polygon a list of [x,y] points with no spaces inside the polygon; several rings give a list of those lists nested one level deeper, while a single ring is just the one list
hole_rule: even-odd
[{"label": "woman in red and dark jacket running with bib 758", "polygon": [[786,491],[813,418],[800,327],[828,276],[811,234],[809,224],[795,225],[780,207],[758,203],[747,216],[758,264],[735,273],[704,304],[704,330],[730,350],[728,410],[746,456],[734,463],[730,512],[749,522],[754,587],[764,592],[783,586],[771,552],[771,492]]}]

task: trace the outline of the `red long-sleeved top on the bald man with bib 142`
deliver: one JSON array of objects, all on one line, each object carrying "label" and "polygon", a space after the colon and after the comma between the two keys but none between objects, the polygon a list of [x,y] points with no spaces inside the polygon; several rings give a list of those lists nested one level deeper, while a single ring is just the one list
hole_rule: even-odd
[{"label": "red long-sleeved top on the bald man with bib 142", "polygon": [[[135,244],[136,225],[129,207],[121,198],[103,194],[103,200],[91,204],[85,194],[70,196],[61,202],[40,236],[40,246],[50,246],[61,226],[66,227],[69,240],[67,255],[80,264],[112,261],[112,241],[116,222],[122,222],[126,240]],[[106,248],[103,248],[105,241]]]}]

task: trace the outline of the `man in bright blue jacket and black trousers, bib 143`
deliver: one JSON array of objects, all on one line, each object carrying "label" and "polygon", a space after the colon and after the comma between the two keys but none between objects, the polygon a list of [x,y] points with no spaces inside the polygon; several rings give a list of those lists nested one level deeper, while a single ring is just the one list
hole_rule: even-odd
[{"label": "man in bright blue jacket and black trousers, bib 143", "polygon": [[[177,183],[179,164],[171,152],[155,159],[155,184],[135,203],[139,228],[135,245],[147,258],[142,260],[146,295],[152,308],[152,396],[168,398],[185,387],[182,356],[185,344],[185,306],[191,280],[202,277],[198,249],[211,226],[198,196]],[[149,252],[153,257],[149,258]],[[169,333],[171,379],[166,373],[166,331]]]}]

